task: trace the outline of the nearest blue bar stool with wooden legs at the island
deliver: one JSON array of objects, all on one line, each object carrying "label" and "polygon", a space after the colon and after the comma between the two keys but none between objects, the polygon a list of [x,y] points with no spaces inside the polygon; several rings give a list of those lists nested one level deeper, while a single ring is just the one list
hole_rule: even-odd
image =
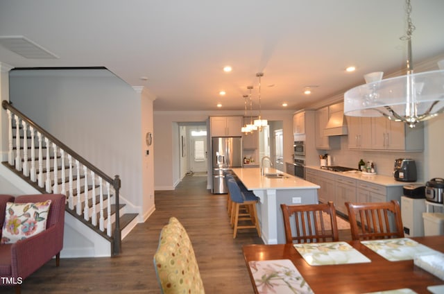
[{"label": "nearest blue bar stool with wooden legs at the island", "polygon": [[[231,209],[231,225],[234,229],[233,239],[237,236],[237,230],[239,229],[256,229],[259,237],[261,236],[261,230],[259,227],[259,220],[257,218],[256,203],[258,198],[253,192],[243,193],[239,188],[236,180],[228,180],[228,190],[230,191],[230,198],[232,201]],[[247,211],[241,211],[246,207]],[[250,220],[252,225],[239,225],[239,221]]]}]

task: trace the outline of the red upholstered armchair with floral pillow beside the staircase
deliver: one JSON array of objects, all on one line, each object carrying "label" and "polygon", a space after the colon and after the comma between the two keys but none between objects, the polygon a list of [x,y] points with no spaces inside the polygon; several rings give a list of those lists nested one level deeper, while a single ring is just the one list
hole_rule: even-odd
[{"label": "red upholstered armchair with floral pillow beside the staircase", "polygon": [[0,286],[20,285],[56,256],[60,265],[65,227],[62,194],[0,195]]}]

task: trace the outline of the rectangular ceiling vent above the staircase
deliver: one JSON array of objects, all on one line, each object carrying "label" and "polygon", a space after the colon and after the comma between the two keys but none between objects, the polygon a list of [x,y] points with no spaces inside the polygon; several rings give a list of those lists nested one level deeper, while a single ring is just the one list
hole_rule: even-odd
[{"label": "rectangular ceiling vent above the staircase", "polygon": [[58,59],[58,56],[24,36],[0,36],[0,45],[28,59]]}]

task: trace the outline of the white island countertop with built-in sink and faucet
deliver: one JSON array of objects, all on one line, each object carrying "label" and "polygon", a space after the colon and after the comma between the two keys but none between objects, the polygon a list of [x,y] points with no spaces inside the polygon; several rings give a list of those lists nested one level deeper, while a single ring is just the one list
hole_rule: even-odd
[{"label": "white island countertop with built-in sink and faucet", "polygon": [[260,168],[232,168],[233,173],[248,190],[289,190],[289,189],[319,189],[317,184],[307,182],[275,168],[265,168],[265,173],[283,173],[286,178],[266,178],[261,175]]}]

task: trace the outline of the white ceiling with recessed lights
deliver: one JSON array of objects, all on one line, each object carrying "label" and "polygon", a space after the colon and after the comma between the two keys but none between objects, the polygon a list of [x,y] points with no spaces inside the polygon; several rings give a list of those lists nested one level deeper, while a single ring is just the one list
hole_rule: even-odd
[{"label": "white ceiling with recessed lights", "polygon": [[[411,4],[413,62],[444,54],[444,1]],[[257,107],[263,72],[262,109],[297,110],[364,83],[368,72],[403,69],[406,27],[404,0],[0,0],[0,36],[22,35],[59,57],[0,46],[0,62],[106,67],[157,96],[154,110],[243,110],[248,85]],[[318,86],[311,96],[307,85]]]}]

